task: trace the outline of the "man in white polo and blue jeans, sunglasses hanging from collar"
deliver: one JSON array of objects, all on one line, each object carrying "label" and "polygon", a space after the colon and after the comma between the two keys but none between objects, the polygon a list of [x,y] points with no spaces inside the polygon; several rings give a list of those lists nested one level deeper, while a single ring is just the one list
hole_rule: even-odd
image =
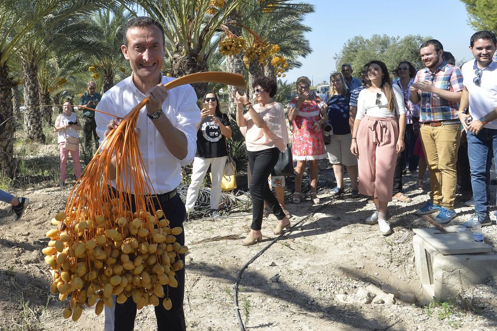
[{"label": "man in white polo and blue jeans, sunglasses hanging from collar", "polygon": [[[473,227],[475,219],[482,226],[492,225],[489,216],[492,151],[497,155],[497,63],[492,61],[492,56],[496,45],[493,32],[476,32],[471,36],[469,47],[475,59],[461,67],[464,89],[458,116],[468,131],[468,158],[475,199],[475,215],[463,224],[467,228]],[[464,112],[468,106],[469,115]]]}]

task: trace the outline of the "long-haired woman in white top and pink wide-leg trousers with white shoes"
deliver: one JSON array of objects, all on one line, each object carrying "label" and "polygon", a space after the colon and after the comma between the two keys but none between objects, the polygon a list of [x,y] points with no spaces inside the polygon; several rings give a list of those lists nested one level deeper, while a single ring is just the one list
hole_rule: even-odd
[{"label": "long-haired woman in white top and pink wide-leg trousers with white shoes", "polygon": [[404,150],[406,105],[383,62],[369,63],[368,78],[371,86],[357,100],[350,151],[359,159],[359,193],[372,196],[376,207],[366,223],[378,223],[380,232],[388,235],[392,230],[387,206],[392,201],[397,155]]}]

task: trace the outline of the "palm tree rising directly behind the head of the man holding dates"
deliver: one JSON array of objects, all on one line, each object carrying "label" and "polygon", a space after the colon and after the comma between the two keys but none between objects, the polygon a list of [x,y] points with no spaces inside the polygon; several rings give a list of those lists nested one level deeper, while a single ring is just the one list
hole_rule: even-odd
[{"label": "palm tree rising directly behind the head of the man holding dates", "polygon": [[[166,53],[171,74],[181,77],[208,70],[214,40],[230,13],[245,0],[139,0],[145,11],[165,25]],[[206,84],[194,84],[201,97]]]}]

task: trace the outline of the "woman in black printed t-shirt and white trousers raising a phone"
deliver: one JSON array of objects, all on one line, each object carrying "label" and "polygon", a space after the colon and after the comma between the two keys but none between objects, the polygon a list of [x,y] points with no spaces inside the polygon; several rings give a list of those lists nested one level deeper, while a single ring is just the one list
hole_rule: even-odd
[{"label": "woman in black printed t-shirt and white trousers raising a phone", "polygon": [[231,138],[228,115],[221,113],[219,100],[214,92],[208,92],[202,99],[201,121],[197,132],[197,152],[193,160],[191,183],[186,194],[186,210],[193,210],[198,191],[209,165],[212,173],[211,216],[218,215],[221,198],[221,179],[228,159],[226,138]]}]

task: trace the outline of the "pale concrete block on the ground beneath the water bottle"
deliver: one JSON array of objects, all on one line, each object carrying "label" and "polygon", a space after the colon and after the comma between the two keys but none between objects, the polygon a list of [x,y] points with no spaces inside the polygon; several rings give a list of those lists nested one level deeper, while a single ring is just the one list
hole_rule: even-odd
[{"label": "pale concrete block on the ground beneath the water bottle", "polygon": [[[450,231],[450,228],[447,228]],[[454,227],[455,228],[455,227]],[[414,232],[419,229],[414,229]],[[425,229],[438,232],[436,229]],[[469,231],[465,231],[470,233]],[[463,232],[464,233],[464,232]],[[438,237],[436,237],[438,238]],[[455,237],[447,237],[453,241]],[[453,299],[468,286],[485,282],[490,277],[497,276],[497,255],[491,251],[481,253],[442,254],[435,247],[442,244],[428,243],[419,235],[414,236],[414,260],[416,272],[423,287],[423,294],[419,301],[428,304],[433,297],[439,300]],[[466,240],[466,244],[468,240]],[[487,245],[488,246],[488,245]],[[448,246],[446,245],[445,248]],[[457,249],[451,243],[452,251]],[[469,248],[471,249],[471,247]],[[447,252],[446,249],[444,249]]]}]

